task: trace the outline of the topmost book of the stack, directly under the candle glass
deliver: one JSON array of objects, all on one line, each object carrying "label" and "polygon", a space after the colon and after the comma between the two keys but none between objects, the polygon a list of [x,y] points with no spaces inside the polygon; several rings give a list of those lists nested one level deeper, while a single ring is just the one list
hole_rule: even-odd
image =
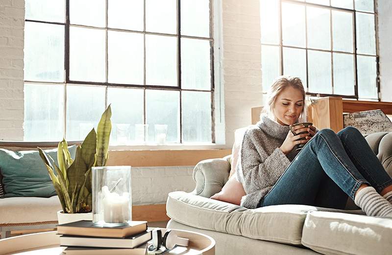
[{"label": "topmost book of the stack, directly under the candle glass", "polygon": [[102,227],[92,221],[76,221],[57,226],[57,233],[67,235],[126,237],[147,230],[147,221],[131,221],[129,225],[119,227]]}]

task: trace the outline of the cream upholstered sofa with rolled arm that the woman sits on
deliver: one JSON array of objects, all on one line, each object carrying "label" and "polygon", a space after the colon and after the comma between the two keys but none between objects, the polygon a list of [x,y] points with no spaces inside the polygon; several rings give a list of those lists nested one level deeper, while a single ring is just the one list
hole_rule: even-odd
[{"label": "cream upholstered sofa with rolled arm that the woman sits on", "polygon": [[[366,140],[392,176],[392,132]],[[230,162],[230,156],[199,162],[195,190],[169,193],[168,228],[211,236],[217,255],[392,254],[392,219],[366,216],[351,199],[345,210],[300,204],[247,209],[210,199],[227,181]]]}]

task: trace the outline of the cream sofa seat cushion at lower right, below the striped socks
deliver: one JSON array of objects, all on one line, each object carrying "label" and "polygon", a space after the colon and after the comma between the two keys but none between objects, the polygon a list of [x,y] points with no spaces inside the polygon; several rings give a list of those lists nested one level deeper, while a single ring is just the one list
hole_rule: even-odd
[{"label": "cream sofa seat cushion at lower right, below the striped socks", "polygon": [[302,244],[322,254],[391,254],[392,219],[338,212],[309,212]]}]

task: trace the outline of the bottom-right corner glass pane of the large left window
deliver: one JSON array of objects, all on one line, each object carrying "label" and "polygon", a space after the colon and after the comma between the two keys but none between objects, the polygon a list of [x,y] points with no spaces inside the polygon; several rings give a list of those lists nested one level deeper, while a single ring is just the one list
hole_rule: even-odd
[{"label": "bottom-right corner glass pane of the large left window", "polygon": [[211,93],[183,91],[181,96],[183,142],[211,143]]}]

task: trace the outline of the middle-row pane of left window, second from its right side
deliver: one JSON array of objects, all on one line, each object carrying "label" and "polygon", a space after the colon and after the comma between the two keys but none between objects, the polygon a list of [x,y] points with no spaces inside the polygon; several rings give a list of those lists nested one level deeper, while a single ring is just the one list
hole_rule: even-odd
[{"label": "middle-row pane of left window, second from its right side", "polygon": [[177,86],[177,38],[146,35],[146,84]]}]

